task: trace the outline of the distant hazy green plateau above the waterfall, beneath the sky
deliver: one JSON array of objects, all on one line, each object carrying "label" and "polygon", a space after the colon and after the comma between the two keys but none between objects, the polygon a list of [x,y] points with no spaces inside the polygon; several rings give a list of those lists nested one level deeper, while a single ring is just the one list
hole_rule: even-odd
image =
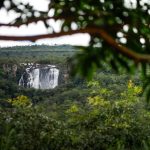
[{"label": "distant hazy green plateau above the waterfall, beneath the sky", "polygon": [[0,48],[0,64],[42,63],[65,64],[66,57],[71,57],[77,50],[69,45],[47,46],[15,46]]}]

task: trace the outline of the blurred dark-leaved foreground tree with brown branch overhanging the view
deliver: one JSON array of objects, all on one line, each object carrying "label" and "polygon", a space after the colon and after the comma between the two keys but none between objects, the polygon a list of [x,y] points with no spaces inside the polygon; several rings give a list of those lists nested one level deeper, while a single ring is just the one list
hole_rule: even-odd
[{"label": "blurred dark-leaved foreground tree with brown branch overhanging the view", "polygon": [[[9,3],[9,5],[6,5]],[[77,55],[80,62],[78,71],[90,75],[92,70],[105,67],[104,62],[120,70],[121,66],[132,72],[142,69],[146,79],[150,62],[150,2],[149,0],[51,0],[45,12],[35,10],[30,3],[2,0],[0,7],[18,14],[13,22],[0,26],[16,26],[43,21],[52,33],[33,36],[0,36],[0,40],[29,40],[54,38],[76,33],[88,33],[91,37],[88,47],[80,47]],[[6,7],[7,6],[7,7]],[[23,8],[23,9],[22,9]],[[54,15],[49,16],[53,11]],[[56,33],[48,20],[61,21],[61,30]],[[76,61],[74,61],[75,66]],[[79,65],[78,65],[79,66]],[[150,93],[150,92],[149,92]],[[149,94],[150,95],[150,94]]]}]

